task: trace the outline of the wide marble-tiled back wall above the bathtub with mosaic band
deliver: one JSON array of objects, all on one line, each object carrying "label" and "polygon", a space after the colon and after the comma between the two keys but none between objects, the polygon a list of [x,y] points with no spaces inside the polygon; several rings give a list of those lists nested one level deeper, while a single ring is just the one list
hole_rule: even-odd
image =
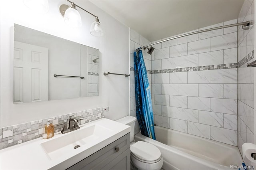
[{"label": "wide marble-tiled back wall above the bathtub with mosaic band", "polygon": [[[237,19],[199,30],[234,23]],[[153,45],[156,125],[238,145],[237,40],[232,27]]]}]

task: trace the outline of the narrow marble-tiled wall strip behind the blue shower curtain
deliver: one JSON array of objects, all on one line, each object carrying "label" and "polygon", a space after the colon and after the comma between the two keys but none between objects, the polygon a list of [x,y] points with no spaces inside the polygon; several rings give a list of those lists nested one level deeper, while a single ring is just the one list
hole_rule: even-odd
[{"label": "narrow marble-tiled wall strip behind the blue shower curtain", "polygon": [[[134,82],[134,51],[144,45],[148,45],[151,42],[146,38],[130,29],[130,115],[136,117],[136,103],[135,103],[135,82]],[[150,83],[151,89],[151,55],[147,53],[148,50],[142,50],[144,63],[148,71],[148,81]],[[140,132],[140,127],[138,121],[135,123],[135,132],[137,134]]]}]

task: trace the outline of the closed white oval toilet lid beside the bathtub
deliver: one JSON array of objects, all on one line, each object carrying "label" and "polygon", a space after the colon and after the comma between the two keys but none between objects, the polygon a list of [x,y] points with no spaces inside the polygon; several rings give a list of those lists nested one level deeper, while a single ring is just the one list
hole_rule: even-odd
[{"label": "closed white oval toilet lid beside the bathtub", "polygon": [[138,141],[130,146],[134,156],[145,161],[156,161],[161,157],[160,150],[148,142]]}]

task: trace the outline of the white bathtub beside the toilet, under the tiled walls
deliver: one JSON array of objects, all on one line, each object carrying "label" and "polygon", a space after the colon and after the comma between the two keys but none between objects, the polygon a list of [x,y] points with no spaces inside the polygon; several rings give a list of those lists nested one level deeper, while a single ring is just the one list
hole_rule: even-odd
[{"label": "white bathtub beside the toilet, under the tiled walls", "polygon": [[242,164],[238,147],[168,128],[155,127],[156,140],[138,133],[135,141],[154,144],[164,158],[165,170],[230,170]]}]

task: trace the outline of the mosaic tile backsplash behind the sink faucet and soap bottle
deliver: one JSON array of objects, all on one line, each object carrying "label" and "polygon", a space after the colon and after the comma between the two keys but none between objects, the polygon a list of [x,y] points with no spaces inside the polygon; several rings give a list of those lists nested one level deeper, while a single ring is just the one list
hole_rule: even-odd
[{"label": "mosaic tile backsplash behind the sink faucet and soap bottle", "polygon": [[[67,123],[67,119],[70,116],[76,119],[82,118],[82,120],[79,121],[79,125],[82,125],[84,123],[103,118],[104,116],[102,114],[103,109],[102,107],[99,107],[95,109],[79,111],[76,113],[49,117],[48,119],[52,119],[50,121],[54,125],[55,132],[59,132],[63,128],[63,125],[60,124]],[[48,119],[41,119],[20,125],[0,128],[0,149],[42,137],[42,134],[44,134],[44,127]]]}]

